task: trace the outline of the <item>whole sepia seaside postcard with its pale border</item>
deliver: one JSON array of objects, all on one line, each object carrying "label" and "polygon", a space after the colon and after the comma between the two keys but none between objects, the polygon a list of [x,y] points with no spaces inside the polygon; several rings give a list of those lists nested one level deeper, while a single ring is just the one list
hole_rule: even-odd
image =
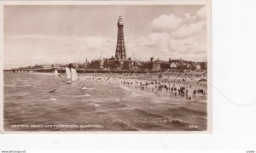
[{"label": "whole sepia seaside postcard with its pale border", "polygon": [[210,133],[206,2],[3,5],[3,131]]}]

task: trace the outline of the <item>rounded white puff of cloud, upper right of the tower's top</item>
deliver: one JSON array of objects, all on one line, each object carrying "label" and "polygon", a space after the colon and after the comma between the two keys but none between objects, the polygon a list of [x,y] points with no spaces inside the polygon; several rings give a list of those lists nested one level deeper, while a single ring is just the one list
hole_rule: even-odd
[{"label": "rounded white puff of cloud, upper right of the tower's top", "polygon": [[151,25],[153,27],[153,31],[169,31],[177,29],[177,27],[182,23],[183,20],[173,14],[163,14],[152,20]]}]

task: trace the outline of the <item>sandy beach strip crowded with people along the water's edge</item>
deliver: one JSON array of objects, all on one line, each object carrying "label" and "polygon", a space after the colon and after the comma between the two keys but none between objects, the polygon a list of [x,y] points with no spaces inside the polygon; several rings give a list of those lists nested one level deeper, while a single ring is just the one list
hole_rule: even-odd
[{"label": "sandy beach strip crowded with people along the water's edge", "polygon": [[207,95],[205,74],[189,73],[86,73],[85,80],[113,84],[129,88],[131,94],[137,91],[150,92],[158,97],[162,95],[181,96],[188,100],[197,95]]}]

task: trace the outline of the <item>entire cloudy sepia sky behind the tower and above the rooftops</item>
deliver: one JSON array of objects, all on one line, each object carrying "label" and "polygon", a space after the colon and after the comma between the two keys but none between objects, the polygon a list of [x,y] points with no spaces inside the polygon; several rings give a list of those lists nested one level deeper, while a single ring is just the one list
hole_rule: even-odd
[{"label": "entire cloudy sepia sky behind the tower and above the rooftops", "polygon": [[4,6],[4,68],[84,62],[115,54],[117,20],[128,57],[207,60],[203,5]]}]

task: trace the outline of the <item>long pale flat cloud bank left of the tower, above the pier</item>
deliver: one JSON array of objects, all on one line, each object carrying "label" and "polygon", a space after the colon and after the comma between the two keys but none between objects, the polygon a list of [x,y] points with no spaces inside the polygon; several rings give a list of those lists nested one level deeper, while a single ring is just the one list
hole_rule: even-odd
[{"label": "long pale flat cloud bank left of the tower, above the pier", "polygon": [[[111,57],[115,39],[110,37],[10,36],[4,38],[4,65],[84,62],[85,58]],[[33,55],[32,55],[33,54]],[[15,58],[14,58],[15,57]],[[17,61],[22,61],[20,62]]]}]

